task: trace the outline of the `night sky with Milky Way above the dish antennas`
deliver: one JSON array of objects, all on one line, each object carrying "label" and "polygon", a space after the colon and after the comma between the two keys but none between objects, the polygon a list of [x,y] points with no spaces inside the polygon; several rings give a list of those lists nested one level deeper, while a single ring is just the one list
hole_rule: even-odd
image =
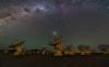
[{"label": "night sky with Milky Way above the dish antennas", "polygon": [[0,46],[26,40],[26,49],[52,40],[95,46],[109,43],[109,0],[0,0]]}]

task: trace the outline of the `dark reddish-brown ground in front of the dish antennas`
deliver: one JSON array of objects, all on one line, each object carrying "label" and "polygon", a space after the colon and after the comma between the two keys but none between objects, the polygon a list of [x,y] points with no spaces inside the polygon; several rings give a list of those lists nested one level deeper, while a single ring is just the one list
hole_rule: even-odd
[{"label": "dark reddish-brown ground in front of the dish antennas", "polygon": [[109,55],[0,56],[0,67],[109,67]]}]

